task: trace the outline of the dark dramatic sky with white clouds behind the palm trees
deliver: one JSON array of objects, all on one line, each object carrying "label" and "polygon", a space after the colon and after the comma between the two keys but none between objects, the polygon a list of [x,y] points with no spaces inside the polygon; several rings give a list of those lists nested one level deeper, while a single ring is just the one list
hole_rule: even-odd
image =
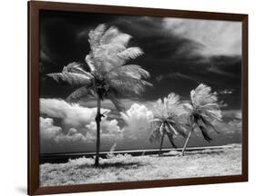
[{"label": "dark dramatic sky with white clouds behind the palm trees", "polygon": [[[211,21],[141,15],[102,15],[40,11],[40,152],[95,152],[96,101],[67,103],[74,91],[56,83],[46,73],[58,73],[71,62],[86,64],[88,33],[99,24],[116,26],[140,47],[144,55],[128,62],[150,73],[153,84],[141,96],[121,99],[125,111],[118,113],[110,101],[101,122],[101,151],[157,148],[148,142],[152,105],[169,93],[189,100],[200,83],[209,85],[219,98],[222,122],[210,132],[212,142],[195,132],[189,146],[241,142],[241,22]],[[184,139],[175,142],[182,146]],[[164,142],[170,147],[169,142]]]}]

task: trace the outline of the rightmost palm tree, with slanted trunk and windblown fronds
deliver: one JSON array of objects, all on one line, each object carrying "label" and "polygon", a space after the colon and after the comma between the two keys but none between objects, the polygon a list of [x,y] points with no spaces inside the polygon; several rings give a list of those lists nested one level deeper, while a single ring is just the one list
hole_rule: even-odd
[{"label": "rightmost palm tree, with slanted trunk and windblown fronds", "polygon": [[[181,155],[184,155],[189,138],[196,128],[200,130],[204,139],[210,142],[212,139],[209,130],[218,132],[212,122],[221,121],[220,106],[217,103],[216,93],[211,93],[209,86],[200,83],[200,85],[190,92],[190,103],[184,103],[184,108],[188,112],[189,124],[191,130],[182,149]],[[219,133],[219,132],[218,132]]]}]

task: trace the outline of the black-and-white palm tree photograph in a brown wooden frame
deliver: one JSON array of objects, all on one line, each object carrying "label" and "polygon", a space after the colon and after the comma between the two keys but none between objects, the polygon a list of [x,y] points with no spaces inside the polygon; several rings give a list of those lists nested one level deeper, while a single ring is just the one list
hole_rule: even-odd
[{"label": "black-and-white palm tree photograph in a brown wooden frame", "polygon": [[248,181],[248,15],[28,2],[28,194]]}]

